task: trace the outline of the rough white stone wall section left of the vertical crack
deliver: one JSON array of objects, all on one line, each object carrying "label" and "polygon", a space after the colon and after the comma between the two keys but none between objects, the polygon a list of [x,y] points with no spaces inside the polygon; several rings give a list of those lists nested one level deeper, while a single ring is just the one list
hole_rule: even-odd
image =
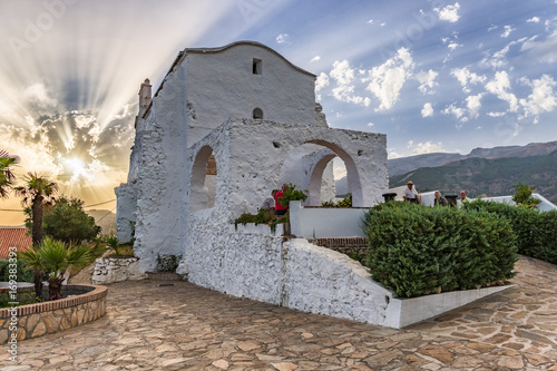
[{"label": "rough white stone wall section left of the vertical crack", "polygon": [[217,215],[214,209],[192,215],[185,255],[188,281],[231,295],[280,304],[282,235],[241,226],[236,232],[234,225],[217,223]]}]

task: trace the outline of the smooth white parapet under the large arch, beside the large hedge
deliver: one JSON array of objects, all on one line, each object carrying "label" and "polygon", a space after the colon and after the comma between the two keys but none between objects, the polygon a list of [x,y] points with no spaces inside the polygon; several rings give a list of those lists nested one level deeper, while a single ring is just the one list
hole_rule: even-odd
[{"label": "smooth white parapet under the large arch, beside the large hedge", "polygon": [[362,219],[368,208],[306,208],[290,202],[292,234],[304,238],[365,237]]}]

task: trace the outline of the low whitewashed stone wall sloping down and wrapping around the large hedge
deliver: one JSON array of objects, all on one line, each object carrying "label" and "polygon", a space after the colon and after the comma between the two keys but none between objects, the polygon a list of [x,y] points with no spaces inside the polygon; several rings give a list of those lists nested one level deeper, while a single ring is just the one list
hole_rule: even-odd
[{"label": "low whitewashed stone wall sloping down and wrapping around the large hedge", "polygon": [[283,242],[282,231],[272,233],[266,225],[227,225],[218,231],[199,225],[195,231],[185,260],[188,281],[235,296],[363,323],[400,329],[509,287],[399,299],[346,255],[305,238]]}]

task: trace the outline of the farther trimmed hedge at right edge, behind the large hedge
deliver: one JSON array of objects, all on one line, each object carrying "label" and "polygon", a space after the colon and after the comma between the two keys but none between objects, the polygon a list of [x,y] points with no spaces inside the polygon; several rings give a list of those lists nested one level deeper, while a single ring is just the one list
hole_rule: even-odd
[{"label": "farther trimmed hedge at right edge, behind the large hedge", "polygon": [[482,199],[465,204],[462,208],[506,217],[517,235],[518,253],[557,264],[557,211],[539,212]]}]

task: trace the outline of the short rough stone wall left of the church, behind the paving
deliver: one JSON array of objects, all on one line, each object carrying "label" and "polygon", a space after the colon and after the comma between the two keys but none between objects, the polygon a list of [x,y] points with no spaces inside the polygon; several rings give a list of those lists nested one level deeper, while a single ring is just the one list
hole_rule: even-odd
[{"label": "short rough stone wall left of the church, behind the paving", "polygon": [[98,285],[145,277],[137,257],[100,257],[95,261],[91,283]]}]

